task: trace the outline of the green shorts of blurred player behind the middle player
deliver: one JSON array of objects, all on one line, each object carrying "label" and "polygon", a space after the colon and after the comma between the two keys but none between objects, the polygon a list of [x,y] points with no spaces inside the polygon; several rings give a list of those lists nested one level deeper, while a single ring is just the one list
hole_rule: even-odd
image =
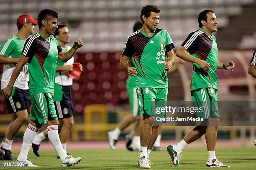
[{"label": "green shorts of blurred player behind the middle player", "polygon": [[138,107],[136,87],[126,87],[126,89],[131,106],[131,117],[136,117],[137,115],[142,116],[141,109]]}]

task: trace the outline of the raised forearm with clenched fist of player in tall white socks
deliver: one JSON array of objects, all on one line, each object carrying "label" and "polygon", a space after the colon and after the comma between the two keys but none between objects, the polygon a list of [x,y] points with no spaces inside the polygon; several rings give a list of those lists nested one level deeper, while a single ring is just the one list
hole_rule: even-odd
[{"label": "raised forearm with clenched fist of player in tall white socks", "polygon": [[74,53],[76,52],[76,50],[80,47],[82,47],[84,45],[84,42],[81,38],[79,38],[78,40],[76,40],[74,42],[74,45],[73,47],[67,51],[67,52],[63,52],[61,51],[58,55],[59,59],[62,61],[62,62],[67,62],[73,55]]}]

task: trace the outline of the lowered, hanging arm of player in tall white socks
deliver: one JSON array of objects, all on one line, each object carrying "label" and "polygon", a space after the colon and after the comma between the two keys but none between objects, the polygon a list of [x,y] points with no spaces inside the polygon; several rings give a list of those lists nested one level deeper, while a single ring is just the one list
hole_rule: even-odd
[{"label": "lowered, hanging arm of player in tall white socks", "polygon": [[21,71],[23,65],[25,65],[27,62],[28,62],[28,57],[21,55],[19,61],[15,65],[15,68],[10,77],[10,81],[8,82],[7,87],[5,87],[5,89],[2,91],[3,97],[5,97],[5,98],[10,97],[10,95],[12,94],[12,91],[13,91],[14,82],[17,79],[18,75],[20,74],[20,71]]}]

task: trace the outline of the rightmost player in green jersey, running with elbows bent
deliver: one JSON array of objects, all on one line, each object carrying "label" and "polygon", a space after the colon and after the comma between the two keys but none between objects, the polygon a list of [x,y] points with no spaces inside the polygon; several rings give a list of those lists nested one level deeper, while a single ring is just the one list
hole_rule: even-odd
[{"label": "rightmost player in green jersey, running with elbows bent", "polygon": [[197,117],[204,118],[200,126],[190,130],[187,136],[167,150],[174,165],[179,165],[182,149],[205,134],[208,159],[207,167],[230,167],[215,156],[215,144],[219,122],[217,69],[233,70],[233,61],[223,63],[218,60],[218,47],[212,32],[217,31],[217,18],[212,10],[204,10],[198,16],[199,30],[188,35],[176,52],[183,60],[192,62],[193,75],[190,92],[195,105],[203,107]]}]

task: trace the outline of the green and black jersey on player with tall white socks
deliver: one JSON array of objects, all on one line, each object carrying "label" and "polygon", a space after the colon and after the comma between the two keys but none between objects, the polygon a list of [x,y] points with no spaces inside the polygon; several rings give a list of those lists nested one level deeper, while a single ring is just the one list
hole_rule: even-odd
[{"label": "green and black jersey on player with tall white socks", "polygon": [[30,95],[54,93],[58,54],[62,51],[54,35],[49,41],[39,32],[26,40],[22,54],[28,59]]}]

